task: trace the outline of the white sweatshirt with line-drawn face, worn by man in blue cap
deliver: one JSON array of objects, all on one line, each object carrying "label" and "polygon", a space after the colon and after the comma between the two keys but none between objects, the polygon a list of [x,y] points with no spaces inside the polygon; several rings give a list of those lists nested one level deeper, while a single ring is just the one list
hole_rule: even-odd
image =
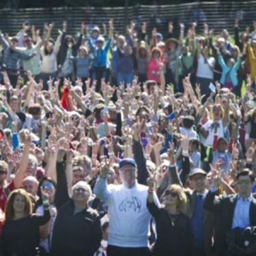
[{"label": "white sweatshirt with line-drawn face, worn by man in blue cap", "polygon": [[[148,187],[107,186],[109,204],[109,244],[121,247],[147,247],[151,214],[147,210]],[[160,206],[154,195],[156,205]]]}]

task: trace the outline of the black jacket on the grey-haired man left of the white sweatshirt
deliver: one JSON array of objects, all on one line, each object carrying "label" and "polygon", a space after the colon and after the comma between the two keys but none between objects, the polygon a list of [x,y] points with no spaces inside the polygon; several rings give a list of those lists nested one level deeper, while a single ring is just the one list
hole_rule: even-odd
[{"label": "black jacket on the grey-haired man left of the white sweatshirt", "polygon": [[95,210],[87,207],[74,214],[72,199],[59,209],[53,227],[52,256],[93,256],[101,240],[100,217]]}]

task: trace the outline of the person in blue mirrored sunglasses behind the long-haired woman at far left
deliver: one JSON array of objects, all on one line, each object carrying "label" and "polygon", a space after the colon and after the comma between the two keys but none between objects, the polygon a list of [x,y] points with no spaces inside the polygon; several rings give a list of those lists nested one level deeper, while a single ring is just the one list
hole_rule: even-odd
[{"label": "person in blue mirrored sunglasses behind the long-haired woman at far left", "polygon": [[50,177],[43,177],[42,180],[40,180],[38,187],[40,190],[38,190],[38,207],[36,208],[35,212],[36,214],[42,215],[43,214],[43,204],[42,204],[42,192],[48,195],[49,199],[49,210],[51,214],[51,219],[44,225],[40,226],[40,250],[42,255],[48,255],[50,251],[51,246],[51,236],[53,233],[53,225],[55,222],[55,218],[57,215],[57,207],[55,205],[55,193],[57,185],[54,180],[52,180]]}]

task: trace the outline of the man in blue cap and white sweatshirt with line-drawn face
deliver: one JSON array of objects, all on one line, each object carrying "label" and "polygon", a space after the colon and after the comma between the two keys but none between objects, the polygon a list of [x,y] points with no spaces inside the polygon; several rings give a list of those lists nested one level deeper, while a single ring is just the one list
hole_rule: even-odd
[{"label": "man in blue cap and white sweatshirt with line-drawn face", "polygon": [[[148,187],[137,182],[137,164],[132,158],[119,162],[121,185],[106,185],[109,166],[104,165],[94,193],[109,205],[108,256],[148,255],[147,234],[150,212],[147,210]],[[159,201],[154,195],[154,201]]]}]

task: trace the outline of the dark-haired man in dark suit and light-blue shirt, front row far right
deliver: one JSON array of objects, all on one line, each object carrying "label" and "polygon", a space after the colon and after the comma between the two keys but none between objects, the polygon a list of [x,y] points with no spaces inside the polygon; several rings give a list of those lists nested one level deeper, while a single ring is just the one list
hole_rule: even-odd
[{"label": "dark-haired man in dark suit and light-blue shirt, front row far right", "polygon": [[255,175],[245,169],[238,173],[236,179],[237,194],[217,197],[216,191],[221,184],[221,175],[217,175],[203,203],[205,210],[219,214],[220,223],[216,225],[216,256],[233,255],[228,253],[228,231],[236,227],[245,229],[256,226],[256,199],[251,194]]}]

